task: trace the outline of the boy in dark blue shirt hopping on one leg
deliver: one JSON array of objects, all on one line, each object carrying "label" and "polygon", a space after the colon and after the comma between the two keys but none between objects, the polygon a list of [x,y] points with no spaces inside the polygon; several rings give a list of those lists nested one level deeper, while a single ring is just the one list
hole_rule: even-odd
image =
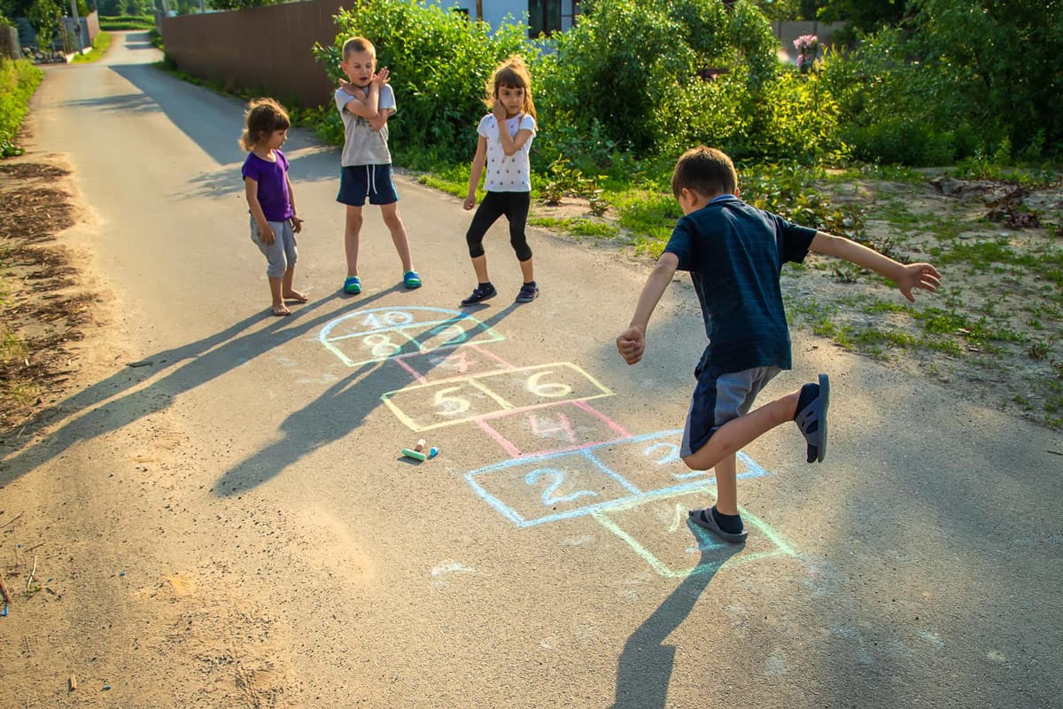
[{"label": "boy in dark blue shirt hopping on one leg", "polygon": [[649,316],[675,272],[690,271],[709,344],[694,371],[697,385],[680,456],[691,470],[715,467],[716,476],[716,504],[690,516],[722,539],[741,542],[747,533],[738,512],[736,453],[786,421],[800,428],[809,462],[822,461],[827,451],[826,374],[749,412],[764,385],[791,366],[779,287],[782,264],[800,263],[810,250],[844,258],[890,278],[912,302],[914,288],[934,290],[941,274],[930,264],[899,264],[844,237],[749,206],[738,199],[733,163],[714,148],[684,153],[672,173],[672,192],[685,216],[617,349],[628,365],[642,359]]}]

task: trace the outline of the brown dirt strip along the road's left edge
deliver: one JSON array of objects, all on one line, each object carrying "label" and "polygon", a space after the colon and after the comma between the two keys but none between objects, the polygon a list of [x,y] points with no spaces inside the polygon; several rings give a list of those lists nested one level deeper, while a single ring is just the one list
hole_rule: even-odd
[{"label": "brown dirt strip along the road's left edge", "polygon": [[0,440],[57,400],[94,297],[56,235],[79,219],[58,158],[0,165]]}]

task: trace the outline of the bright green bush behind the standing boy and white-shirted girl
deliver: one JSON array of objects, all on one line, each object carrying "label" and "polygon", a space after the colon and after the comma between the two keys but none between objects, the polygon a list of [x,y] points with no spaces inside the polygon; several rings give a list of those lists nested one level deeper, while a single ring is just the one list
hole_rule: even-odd
[{"label": "bright green bush behind the standing boy and white-shirted girl", "polygon": [[[341,10],[336,23],[335,43],[316,47],[315,55],[338,82],[348,37],[364,36],[376,46],[377,64],[391,71],[399,112],[388,123],[389,140],[400,153],[431,148],[442,159],[471,161],[491,72],[512,54],[523,54],[533,66],[536,62],[526,27],[492,31],[486,22],[470,22],[465,15],[423,2],[357,3]],[[532,81],[535,96],[534,75]],[[338,112],[333,113],[328,121],[342,135]]]}]

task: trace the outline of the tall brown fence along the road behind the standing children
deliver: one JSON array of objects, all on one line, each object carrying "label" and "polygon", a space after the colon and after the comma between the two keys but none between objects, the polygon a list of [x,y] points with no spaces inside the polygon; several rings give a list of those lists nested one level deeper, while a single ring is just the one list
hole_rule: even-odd
[{"label": "tall brown fence along the road behind the standing children", "polygon": [[326,105],[335,88],[314,61],[336,38],[333,17],[352,0],[309,0],[227,13],[164,17],[163,44],[176,67],[227,88],[261,89],[303,106]]}]

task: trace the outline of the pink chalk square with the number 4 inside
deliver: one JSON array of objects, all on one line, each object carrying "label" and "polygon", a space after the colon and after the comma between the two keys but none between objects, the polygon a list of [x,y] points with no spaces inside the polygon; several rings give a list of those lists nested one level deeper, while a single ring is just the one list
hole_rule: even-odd
[{"label": "pink chalk square with the number 4 inside", "polygon": [[583,402],[504,411],[476,423],[514,458],[578,451],[628,436],[620,424]]}]

